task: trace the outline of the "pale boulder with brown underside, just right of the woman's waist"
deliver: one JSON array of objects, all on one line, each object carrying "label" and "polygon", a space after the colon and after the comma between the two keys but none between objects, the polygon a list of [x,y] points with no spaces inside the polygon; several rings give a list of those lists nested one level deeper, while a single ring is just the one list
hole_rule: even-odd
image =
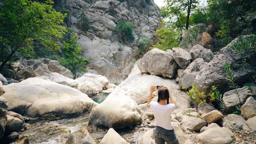
[{"label": "pale boulder with brown underside, just right of the woman's waist", "polygon": [[206,121],[200,118],[184,116],[181,124],[183,131],[200,131],[200,129],[206,126]]}]

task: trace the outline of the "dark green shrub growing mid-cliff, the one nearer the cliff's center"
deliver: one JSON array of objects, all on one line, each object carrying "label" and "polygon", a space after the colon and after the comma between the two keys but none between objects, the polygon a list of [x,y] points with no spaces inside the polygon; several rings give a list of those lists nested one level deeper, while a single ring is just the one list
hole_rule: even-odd
[{"label": "dark green shrub growing mid-cliff, the one nearer the cliff's center", "polygon": [[119,20],[116,24],[115,31],[119,33],[124,40],[130,41],[130,42],[134,40],[132,22],[123,22],[122,20]]}]

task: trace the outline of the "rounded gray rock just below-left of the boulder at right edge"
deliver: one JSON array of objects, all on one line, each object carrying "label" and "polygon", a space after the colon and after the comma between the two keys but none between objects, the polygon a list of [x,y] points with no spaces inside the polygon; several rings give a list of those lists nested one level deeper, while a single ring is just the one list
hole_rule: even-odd
[{"label": "rounded gray rock just below-left of the boulder at right edge", "polygon": [[223,118],[223,126],[233,130],[242,130],[245,120],[243,117],[236,114],[229,114]]}]

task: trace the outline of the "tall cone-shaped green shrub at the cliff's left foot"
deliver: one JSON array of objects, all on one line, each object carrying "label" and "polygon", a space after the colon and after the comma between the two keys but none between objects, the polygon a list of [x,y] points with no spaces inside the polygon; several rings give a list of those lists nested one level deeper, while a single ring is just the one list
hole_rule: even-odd
[{"label": "tall cone-shaped green shrub at the cliff's left foot", "polygon": [[82,53],[81,45],[76,43],[77,38],[71,28],[68,28],[68,33],[63,37],[63,56],[57,58],[61,65],[69,69],[74,75],[77,71],[86,72],[86,64],[88,59],[78,56]]}]

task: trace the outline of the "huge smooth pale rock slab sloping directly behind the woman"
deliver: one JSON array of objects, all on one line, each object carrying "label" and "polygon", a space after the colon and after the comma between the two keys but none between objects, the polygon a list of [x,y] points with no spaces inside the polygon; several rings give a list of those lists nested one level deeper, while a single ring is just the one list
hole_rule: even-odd
[{"label": "huge smooth pale rock slab sloping directly behind the woman", "polygon": [[[138,105],[144,104],[147,102],[148,95],[150,93],[150,86],[154,84],[165,85],[170,90],[171,96],[173,96],[177,104],[177,108],[189,107],[190,97],[185,92],[179,90],[175,80],[164,79],[156,75],[142,73],[138,69],[136,63],[134,64],[134,69],[130,73],[129,77],[119,84],[111,94],[124,94],[135,100]],[[153,93],[153,97],[154,96],[157,96],[157,92]]]}]

